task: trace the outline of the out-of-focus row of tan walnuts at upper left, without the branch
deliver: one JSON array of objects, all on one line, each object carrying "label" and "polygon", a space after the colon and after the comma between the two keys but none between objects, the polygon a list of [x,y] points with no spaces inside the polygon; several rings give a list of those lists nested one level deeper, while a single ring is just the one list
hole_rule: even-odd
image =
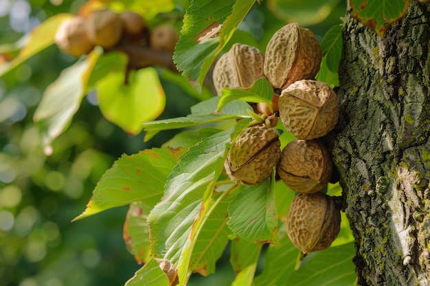
[{"label": "out-of-focus row of tan walnuts at upper left, without the branch", "polygon": [[176,29],[170,25],[160,25],[149,31],[141,15],[131,11],[115,13],[109,9],[64,21],[54,37],[62,51],[76,57],[89,53],[95,46],[111,51],[127,43],[172,52],[178,39]]}]

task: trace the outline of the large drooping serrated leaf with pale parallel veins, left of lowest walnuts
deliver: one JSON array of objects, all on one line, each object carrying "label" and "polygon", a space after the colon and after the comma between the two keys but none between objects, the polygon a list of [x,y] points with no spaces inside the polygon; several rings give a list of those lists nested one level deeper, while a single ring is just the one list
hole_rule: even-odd
[{"label": "large drooping serrated leaf with pale parallel veins, left of lowest walnuts", "polygon": [[[209,204],[215,182],[223,169],[226,144],[233,128],[210,136],[186,152],[168,178],[163,198],[148,215],[152,256],[181,264],[190,246],[194,220]],[[208,200],[209,199],[209,200]],[[205,205],[207,206],[207,205]],[[188,262],[183,264],[188,267]],[[185,272],[186,273],[186,272]],[[181,281],[186,279],[180,275]]]}]

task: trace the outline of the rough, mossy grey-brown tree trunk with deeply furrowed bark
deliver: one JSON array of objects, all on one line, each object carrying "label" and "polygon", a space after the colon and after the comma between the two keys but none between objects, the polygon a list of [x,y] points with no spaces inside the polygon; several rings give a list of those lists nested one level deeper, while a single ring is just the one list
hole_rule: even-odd
[{"label": "rough, mossy grey-brown tree trunk with deeply furrowed bark", "polygon": [[333,149],[360,285],[430,285],[430,8],[343,28]]}]

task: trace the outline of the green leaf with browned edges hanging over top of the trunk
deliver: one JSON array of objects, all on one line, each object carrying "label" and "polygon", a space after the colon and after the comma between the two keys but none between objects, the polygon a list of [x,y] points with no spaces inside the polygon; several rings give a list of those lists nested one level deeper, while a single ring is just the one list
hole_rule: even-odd
[{"label": "green leaf with browned edges hanging over top of the trunk", "polygon": [[403,17],[411,2],[411,0],[350,0],[350,5],[352,16],[382,38],[385,30]]}]

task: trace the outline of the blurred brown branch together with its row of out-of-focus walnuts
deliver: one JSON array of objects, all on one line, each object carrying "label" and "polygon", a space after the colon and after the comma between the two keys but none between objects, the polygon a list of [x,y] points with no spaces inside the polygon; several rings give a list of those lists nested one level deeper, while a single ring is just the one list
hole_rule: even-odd
[{"label": "blurred brown branch together with its row of out-of-focus walnuts", "polygon": [[[172,59],[178,40],[179,33],[171,25],[159,25],[150,31],[141,15],[131,11],[117,14],[107,9],[65,21],[55,36],[56,45],[70,56],[82,56],[95,46],[102,47],[106,53],[126,53],[126,72],[144,67],[164,67],[178,72]],[[212,78],[207,82],[212,83]]]}]

